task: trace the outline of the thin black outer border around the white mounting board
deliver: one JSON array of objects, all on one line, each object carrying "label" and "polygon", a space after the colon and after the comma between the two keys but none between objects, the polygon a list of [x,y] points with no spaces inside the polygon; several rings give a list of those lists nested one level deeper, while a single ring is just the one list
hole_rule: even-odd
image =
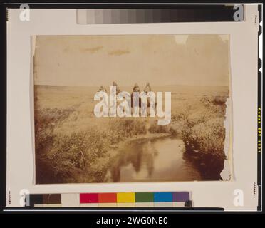
[{"label": "thin black outer border around the white mounting board", "polygon": [[[234,1],[235,2],[235,1]],[[241,1],[236,1],[236,2],[239,2],[240,4],[249,4],[249,3],[257,3],[257,4],[262,4],[259,5],[259,22],[261,21],[261,15],[263,16],[264,12],[262,11],[262,7],[263,7],[263,1],[247,1],[247,2],[241,2]],[[130,9],[130,8],[133,8],[133,9],[137,9],[137,8],[157,8],[157,9],[167,9],[167,8],[171,8],[172,6],[177,6],[175,4],[228,4],[230,3],[230,1],[203,1],[203,2],[198,2],[198,1],[189,1],[189,2],[185,2],[185,1],[179,1],[179,2],[176,2],[176,1],[167,1],[167,2],[161,2],[161,1],[153,1],[153,2],[150,2],[150,1],[140,1],[140,2],[128,2],[128,3],[125,3],[125,2],[122,2],[122,1],[113,1],[113,2],[110,2],[110,1],[78,1],[78,3],[71,3],[71,2],[66,2],[66,1],[56,1],[56,4],[49,0],[49,1],[45,1],[45,4],[43,4],[42,1],[39,1],[39,0],[36,0],[36,1],[20,1],[20,0],[17,0],[17,1],[14,1],[14,0],[11,0],[9,2],[4,2],[4,3],[1,3],[0,4],[0,24],[1,24],[1,36],[0,36],[0,55],[1,55],[1,86],[3,88],[1,88],[1,95],[0,97],[2,98],[3,100],[3,103],[2,103],[2,110],[1,110],[1,120],[4,120],[4,121],[1,121],[1,130],[2,130],[2,137],[1,137],[1,152],[0,152],[0,172],[1,172],[1,182],[0,182],[0,207],[1,207],[1,213],[19,213],[19,214],[23,214],[23,213],[46,213],[45,209],[48,209],[49,212],[51,212],[53,209],[60,209],[61,211],[60,212],[53,212],[53,213],[80,213],[80,214],[83,214],[83,213],[91,213],[91,214],[102,214],[102,213],[107,213],[107,214],[126,214],[128,212],[130,213],[135,213],[135,214],[142,214],[142,212],[145,212],[145,213],[152,213],[152,214],[157,214],[157,213],[160,213],[160,214],[169,214],[169,213],[187,213],[187,214],[190,214],[190,213],[197,213],[197,214],[202,214],[202,213],[206,213],[206,212],[211,212],[211,213],[236,213],[236,214],[245,214],[245,213],[249,213],[249,212],[224,212],[223,209],[221,208],[210,208],[210,207],[201,207],[201,208],[198,208],[198,207],[192,207],[192,208],[181,208],[181,209],[172,209],[172,207],[170,208],[157,208],[159,209],[160,211],[157,212],[157,209],[150,209],[150,208],[139,208],[139,211],[137,211],[138,208],[93,208],[91,209],[90,212],[87,212],[85,210],[88,210],[88,208],[80,208],[80,207],[53,207],[52,209],[49,208],[49,207],[43,207],[40,208],[40,209],[36,209],[36,208],[21,208],[21,207],[9,207],[9,208],[6,208],[5,204],[6,204],[6,118],[7,118],[7,113],[6,113],[6,105],[7,105],[7,101],[6,101],[6,71],[7,71],[7,66],[6,66],[6,19],[7,19],[7,12],[6,12],[6,8],[19,8],[20,4],[23,4],[23,3],[28,3],[30,5],[31,8],[41,8],[41,9],[82,9],[82,8],[100,8],[100,9],[114,9],[114,8],[117,8],[117,6],[122,9]],[[114,4],[115,3],[115,4]],[[180,5],[178,5],[180,6]],[[196,7],[202,7],[199,6],[199,5],[193,5],[193,6],[196,6]],[[263,33],[263,28],[261,26],[259,26],[259,35]],[[259,48],[259,47],[258,47]],[[262,78],[262,73],[259,71],[259,68],[261,68],[261,66],[263,66],[263,62],[261,61],[261,59],[258,57],[258,72],[257,72],[257,76],[258,76],[258,108],[261,108],[261,115],[263,113],[263,78]],[[258,110],[257,110],[258,111]],[[261,131],[263,130],[263,121],[262,121],[262,118],[261,118],[261,123],[259,124],[258,123],[258,126],[257,128],[261,128]],[[262,135],[259,136],[258,133],[257,133],[257,141],[258,140],[262,140]],[[261,142],[262,143],[262,142]],[[257,148],[258,150],[258,148]],[[262,152],[262,145],[261,145],[261,152]],[[263,164],[264,164],[264,157],[262,157],[261,155],[261,152],[258,152],[258,155],[257,155],[257,160],[258,160],[258,182],[257,182],[257,188],[259,190],[259,206],[258,206],[258,211],[257,212],[250,212],[251,214],[253,213],[264,213],[264,212],[261,212],[261,200],[262,202],[264,201],[263,198],[262,198],[262,193],[261,190],[261,184],[262,184],[262,181],[264,179],[264,176],[262,175],[261,171],[262,171],[262,167],[263,167]],[[4,212],[4,209],[6,209],[6,211]],[[10,211],[9,211],[10,209]],[[33,211],[31,212],[28,212],[28,211],[25,211],[25,209],[33,209]],[[69,209],[73,209],[73,211],[71,212],[68,212],[66,210],[69,210]],[[78,211],[75,211],[76,209],[78,209]],[[104,212],[102,212],[101,210],[104,210]],[[115,209],[117,210],[117,212],[113,212],[113,211],[109,211],[111,209]],[[20,210],[20,211],[11,211],[11,210]],[[120,212],[120,210],[123,210],[123,212]],[[148,211],[146,211],[148,210]],[[165,212],[162,212],[162,211],[165,211]]]}]

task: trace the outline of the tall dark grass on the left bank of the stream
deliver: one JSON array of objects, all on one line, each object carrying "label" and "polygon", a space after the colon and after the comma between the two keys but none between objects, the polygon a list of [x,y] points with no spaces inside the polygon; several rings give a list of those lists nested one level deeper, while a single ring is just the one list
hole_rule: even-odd
[{"label": "tall dark grass on the left bank of the stream", "polygon": [[[72,111],[72,110],[71,110]],[[103,182],[111,146],[147,133],[145,120],[110,118],[105,124],[73,133],[55,133],[70,110],[46,109],[36,115],[36,180],[43,182]],[[69,130],[70,131],[70,130]]]}]

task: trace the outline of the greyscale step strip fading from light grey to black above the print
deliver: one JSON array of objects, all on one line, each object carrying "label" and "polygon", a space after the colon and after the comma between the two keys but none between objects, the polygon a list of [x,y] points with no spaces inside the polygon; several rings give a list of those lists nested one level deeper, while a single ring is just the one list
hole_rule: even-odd
[{"label": "greyscale step strip fading from light grey to black above the print", "polygon": [[234,7],[178,6],[177,9],[77,9],[77,24],[134,24],[234,21]]}]

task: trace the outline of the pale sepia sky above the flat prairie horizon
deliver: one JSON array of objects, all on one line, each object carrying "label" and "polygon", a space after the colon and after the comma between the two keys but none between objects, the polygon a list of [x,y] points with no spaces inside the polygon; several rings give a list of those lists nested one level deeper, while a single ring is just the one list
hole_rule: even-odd
[{"label": "pale sepia sky above the flat prairie horizon", "polygon": [[34,80],[52,86],[229,86],[229,36],[37,36]]}]

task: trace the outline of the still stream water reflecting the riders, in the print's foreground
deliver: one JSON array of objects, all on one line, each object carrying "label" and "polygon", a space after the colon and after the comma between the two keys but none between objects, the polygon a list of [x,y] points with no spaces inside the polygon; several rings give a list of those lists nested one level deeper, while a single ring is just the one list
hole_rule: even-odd
[{"label": "still stream water reflecting the riders, in the print's foreground", "polygon": [[199,171],[185,160],[182,140],[135,140],[121,148],[111,162],[109,182],[200,180]]}]

